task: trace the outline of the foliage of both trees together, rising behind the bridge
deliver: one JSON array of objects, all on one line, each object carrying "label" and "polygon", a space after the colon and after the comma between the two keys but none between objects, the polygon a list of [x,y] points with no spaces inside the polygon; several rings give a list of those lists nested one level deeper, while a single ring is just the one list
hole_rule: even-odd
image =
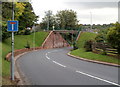
[{"label": "foliage of both trees together, rising behind the bridge", "polygon": [[78,26],[77,15],[73,10],[61,10],[56,15],[52,14],[52,11],[45,12],[45,17],[42,20],[40,26],[43,29],[47,29],[49,23],[49,30],[53,29],[67,29],[73,30]]}]

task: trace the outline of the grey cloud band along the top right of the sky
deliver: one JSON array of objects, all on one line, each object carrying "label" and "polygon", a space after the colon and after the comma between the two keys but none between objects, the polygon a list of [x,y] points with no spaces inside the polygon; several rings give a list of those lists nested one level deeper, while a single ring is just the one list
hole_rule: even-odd
[{"label": "grey cloud band along the top right of the sky", "polygon": [[80,9],[118,8],[117,2],[65,2],[65,4]]}]

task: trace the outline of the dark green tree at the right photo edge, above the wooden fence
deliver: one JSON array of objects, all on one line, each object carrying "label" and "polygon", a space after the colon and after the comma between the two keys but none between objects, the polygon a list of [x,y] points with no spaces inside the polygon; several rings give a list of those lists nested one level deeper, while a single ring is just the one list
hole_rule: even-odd
[{"label": "dark green tree at the right photo edge, above the wooden fence", "polygon": [[116,23],[115,27],[109,28],[107,33],[107,40],[118,51],[118,57],[120,58],[120,23]]}]

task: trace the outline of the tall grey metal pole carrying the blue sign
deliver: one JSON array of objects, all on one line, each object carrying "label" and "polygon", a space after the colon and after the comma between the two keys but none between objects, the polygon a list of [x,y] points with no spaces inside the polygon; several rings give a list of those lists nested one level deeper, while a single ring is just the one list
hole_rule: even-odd
[{"label": "tall grey metal pole carrying the blue sign", "polygon": [[[12,20],[14,21],[14,1],[12,2]],[[12,24],[13,29],[13,24]],[[14,81],[14,31],[12,31],[11,80]]]}]

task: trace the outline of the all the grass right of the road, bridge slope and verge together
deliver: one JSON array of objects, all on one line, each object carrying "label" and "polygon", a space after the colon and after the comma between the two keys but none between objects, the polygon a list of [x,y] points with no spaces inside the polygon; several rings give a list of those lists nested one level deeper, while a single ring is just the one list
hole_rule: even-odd
[{"label": "all the grass right of the road, bridge slope and verge together", "polygon": [[72,51],[71,54],[82,57],[82,58],[86,58],[86,59],[118,64],[120,62],[120,59],[118,60],[117,58],[114,58],[114,57],[85,51],[84,49],[85,42],[87,40],[94,40],[95,37],[96,37],[95,33],[89,33],[89,32],[82,33],[79,40],[77,41],[77,46],[79,49]]}]

